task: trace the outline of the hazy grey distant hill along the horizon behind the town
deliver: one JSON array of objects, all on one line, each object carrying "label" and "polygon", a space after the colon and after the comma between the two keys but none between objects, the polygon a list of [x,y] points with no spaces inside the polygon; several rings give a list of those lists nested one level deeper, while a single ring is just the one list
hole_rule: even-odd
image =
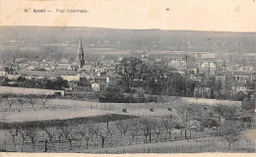
[{"label": "hazy grey distant hill along the horizon behind the town", "polygon": [[[217,32],[95,27],[0,26],[0,45],[74,46],[170,51],[256,51],[255,32]],[[10,42],[10,40],[15,40]]]}]

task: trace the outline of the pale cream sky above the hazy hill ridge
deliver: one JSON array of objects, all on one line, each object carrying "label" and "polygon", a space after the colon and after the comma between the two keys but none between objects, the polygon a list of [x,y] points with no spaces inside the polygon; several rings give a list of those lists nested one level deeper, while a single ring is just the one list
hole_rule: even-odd
[{"label": "pale cream sky above the hazy hill ridge", "polygon": [[[29,13],[25,9],[30,8]],[[168,8],[168,11],[166,9]],[[51,12],[32,13],[33,9]],[[89,13],[57,13],[85,9]],[[253,0],[1,0],[0,26],[91,26],[256,32]]]}]

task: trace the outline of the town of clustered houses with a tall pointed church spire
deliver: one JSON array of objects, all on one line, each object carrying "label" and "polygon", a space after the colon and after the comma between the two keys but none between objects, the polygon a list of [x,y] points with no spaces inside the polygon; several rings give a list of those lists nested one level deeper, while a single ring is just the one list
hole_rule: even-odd
[{"label": "town of clustered houses with a tall pointed church spire", "polygon": [[[101,55],[96,61],[90,61],[87,59],[87,50],[83,48],[82,41],[80,40],[78,43],[77,58],[74,63],[70,63],[65,58],[58,62],[46,59],[33,61],[28,58],[3,61],[0,72],[1,84],[12,87],[59,89],[65,90],[67,93],[85,90],[99,92],[104,91],[109,84],[116,84],[117,81],[121,81],[118,68],[123,66],[121,64],[124,58],[128,60],[136,58],[141,63],[134,66],[144,65],[146,67],[144,70],[141,69],[144,72],[138,72],[138,75],[141,75],[140,79],[134,76],[133,80],[136,81],[136,85],[132,86],[133,91],[152,95],[166,94],[238,101],[255,100],[256,68],[254,56],[254,58],[244,56],[243,61],[241,61],[232,59],[231,55],[223,56],[213,52],[183,53],[174,51],[169,54],[156,55],[147,50],[134,50],[127,56]],[[129,56],[132,57],[129,58]],[[128,64],[128,62],[123,64]],[[155,76],[151,76],[152,78],[149,78],[150,71],[155,73]],[[182,91],[167,91],[169,87],[166,85],[170,85],[167,84],[170,83],[168,80],[170,74],[178,75],[184,83],[187,83],[187,86],[183,86]],[[55,80],[56,78],[63,79],[61,86],[40,85],[43,81]],[[176,80],[176,82],[183,83],[182,79]],[[111,83],[112,80],[114,82]],[[152,86],[149,85],[153,85],[150,83],[152,80],[160,87],[165,85],[165,89],[162,88],[158,92],[159,87],[158,90],[151,92],[149,88]],[[172,85],[172,87],[175,86]],[[177,86],[176,88],[180,87]],[[128,90],[125,89],[126,92]]]}]

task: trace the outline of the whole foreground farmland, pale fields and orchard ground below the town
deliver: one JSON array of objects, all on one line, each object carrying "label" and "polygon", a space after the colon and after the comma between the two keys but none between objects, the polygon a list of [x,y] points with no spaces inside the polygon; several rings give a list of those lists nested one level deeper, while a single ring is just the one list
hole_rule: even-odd
[{"label": "whole foreground farmland, pale fields and orchard ground below the town", "polygon": [[[178,107],[193,103],[207,106],[218,103],[240,105],[231,101],[180,98],[168,103],[49,99],[43,106],[42,101],[37,99],[33,107],[30,103],[21,106],[18,102],[10,107],[6,100],[1,103],[0,109],[0,149],[86,153],[255,151],[255,143],[250,138],[251,130],[242,131],[242,137],[229,149],[228,143],[220,135],[221,130],[216,128],[198,131],[183,130],[173,124],[170,128],[167,125],[163,127],[162,122],[169,123],[169,116],[180,117],[176,110]],[[123,112],[123,109],[127,112]],[[196,122],[191,120],[189,123]]]}]

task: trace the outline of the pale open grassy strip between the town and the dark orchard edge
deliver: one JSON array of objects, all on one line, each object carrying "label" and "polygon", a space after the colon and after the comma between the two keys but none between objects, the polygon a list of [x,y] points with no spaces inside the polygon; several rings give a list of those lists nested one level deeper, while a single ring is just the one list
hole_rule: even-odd
[{"label": "pale open grassy strip between the town and the dark orchard edge", "polygon": [[[183,104],[226,104],[239,105],[236,101],[225,100],[206,100],[195,98],[182,98],[170,103],[98,103],[79,100],[67,99],[50,99],[42,106],[42,102],[38,99],[32,108],[32,105],[25,103],[23,107],[16,102],[10,106],[8,103],[2,102],[0,108],[0,122],[28,122],[28,121],[43,121],[43,120],[61,120],[73,119],[81,117],[92,117],[107,114],[125,114],[132,116],[145,117],[164,117],[170,114],[175,114],[175,106]],[[167,111],[167,108],[172,108],[172,111]],[[150,109],[154,109],[151,112]],[[127,113],[122,110],[126,109]]]}]

